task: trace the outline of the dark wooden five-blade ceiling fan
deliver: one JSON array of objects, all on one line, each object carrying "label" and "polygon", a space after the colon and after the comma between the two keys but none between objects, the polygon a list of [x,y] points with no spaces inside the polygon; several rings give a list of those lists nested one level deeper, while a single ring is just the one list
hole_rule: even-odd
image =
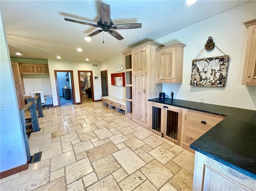
[{"label": "dark wooden five-blade ceiling fan", "polygon": [[118,32],[114,31],[114,29],[136,29],[141,28],[141,23],[127,23],[127,24],[114,24],[112,22],[112,19],[110,18],[110,5],[100,2],[100,18],[98,20],[97,24],[92,24],[88,22],[73,20],[64,18],[66,21],[75,22],[79,24],[89,25],[101,28],[100,30],[96,30],[93,33],[90,33],[86,37],[92,37],[98,33],[101,33],[102,31],[110,33],[113,37],[115,37],[118,40],[124,39]]}]

